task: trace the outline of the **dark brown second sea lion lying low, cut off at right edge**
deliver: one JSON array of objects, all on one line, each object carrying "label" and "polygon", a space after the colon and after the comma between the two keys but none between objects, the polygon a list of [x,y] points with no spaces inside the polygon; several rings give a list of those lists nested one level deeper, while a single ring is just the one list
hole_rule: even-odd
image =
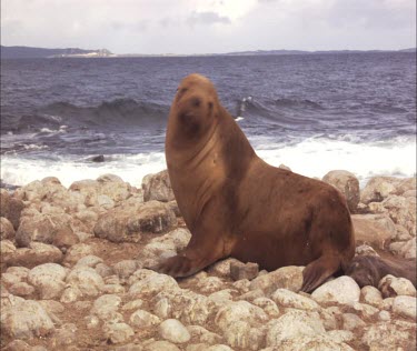
[{"label": "dark brown second sea lion lying low, cut off at right edge", "polygon": [[378,288],[379,281],[387,274],[406,278],[416,287],[416,260],[357,255],[346,268],[345,274],[355,279],[360,288]]}]

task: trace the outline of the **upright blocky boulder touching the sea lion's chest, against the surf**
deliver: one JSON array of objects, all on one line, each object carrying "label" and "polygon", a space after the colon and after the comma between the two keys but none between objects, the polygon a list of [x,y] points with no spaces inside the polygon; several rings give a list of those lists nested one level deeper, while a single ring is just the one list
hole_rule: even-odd
[{"label": "upright blocky boulder touching the sea lion's chest, against the surf", "polygon": [[168,171],[148,174],[142,181],[143,201],[157,200],[169,202],[175,200]]}]

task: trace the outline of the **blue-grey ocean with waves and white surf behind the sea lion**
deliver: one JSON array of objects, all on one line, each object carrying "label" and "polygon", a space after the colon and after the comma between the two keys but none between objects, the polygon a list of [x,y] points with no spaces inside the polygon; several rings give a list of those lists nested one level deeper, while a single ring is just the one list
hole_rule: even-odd
[{"label": "blue-grey ocean with waves and white surf behind the sea lion", "polygon": [[[179,81],[215,83],[257,153],[308,177],[416,174],[416,53],[1,60],[1,180],[166,168]],[[92,158],[102,156],[103,162]]]}]

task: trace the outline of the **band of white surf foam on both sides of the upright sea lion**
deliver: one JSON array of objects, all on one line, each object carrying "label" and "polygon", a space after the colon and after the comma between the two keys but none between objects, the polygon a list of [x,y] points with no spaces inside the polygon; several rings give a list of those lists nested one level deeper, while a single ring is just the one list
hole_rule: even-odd
[{"label": "band of white surf foam on both sides of the upright sea lion", "polygon": [[[257,141],[257,142],[256,142]],[[331,170],[355,173],[361,187],[373,176],[413,177],[416,174],[415,138],[378,142],[355,143],[319,138],[306,139],[292,146],[272,143],[265,138],[252,141],[259,157],[272,166],[281,163],[294,172],[322,178]],[[92,157],[92,156],[91,156]],[[102,163],[80,159],[29,159],[19,154],[3,154],[1,179],[4,183],[23,185],[44,177],[57,177],[69,187],[73,181],[96,179],[105,173],[121,177],[135,187],[149,173],[166,169],[163,152],[112,156]]]}]

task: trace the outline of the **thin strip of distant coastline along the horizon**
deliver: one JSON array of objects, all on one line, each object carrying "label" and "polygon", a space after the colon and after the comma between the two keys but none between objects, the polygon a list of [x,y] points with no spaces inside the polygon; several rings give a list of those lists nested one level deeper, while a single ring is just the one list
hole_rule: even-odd
[{"label": "thin strip of distant coastline along the horizon", "polygon": [[112,53],[108,49],[86,50],[79,48],[46,49],[32,47],[6,47],[1,46],[1,59],[36,59],[36,58],[135,58],[135,57],[212,57],[212,56],[286,56],[286,54],[322,54],[322,53],[366,53],[366,52],[416,52],[416,48],[403,50],[255,50],[234,51],[226,53],[195,53],[195,54],[147,54],[147,53]]}]

